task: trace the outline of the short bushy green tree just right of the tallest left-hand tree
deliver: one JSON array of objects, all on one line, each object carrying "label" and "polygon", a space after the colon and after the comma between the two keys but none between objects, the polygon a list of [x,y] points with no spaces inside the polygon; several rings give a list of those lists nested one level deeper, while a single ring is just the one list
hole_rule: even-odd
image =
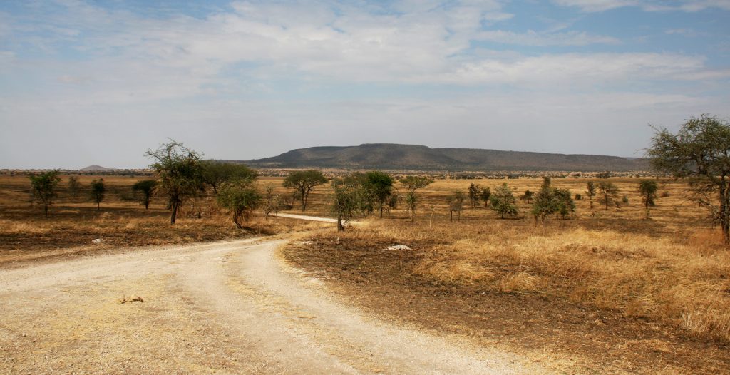
[{"label": "short bushy green tree just right of the tallest left-hand tree", "polygon": [[256,190],[253,179],[222,182],[219,188],[218,204],[228,210],[237,228],[242,228],[242,221],[247,221],[261,202],[261,194]]}]

